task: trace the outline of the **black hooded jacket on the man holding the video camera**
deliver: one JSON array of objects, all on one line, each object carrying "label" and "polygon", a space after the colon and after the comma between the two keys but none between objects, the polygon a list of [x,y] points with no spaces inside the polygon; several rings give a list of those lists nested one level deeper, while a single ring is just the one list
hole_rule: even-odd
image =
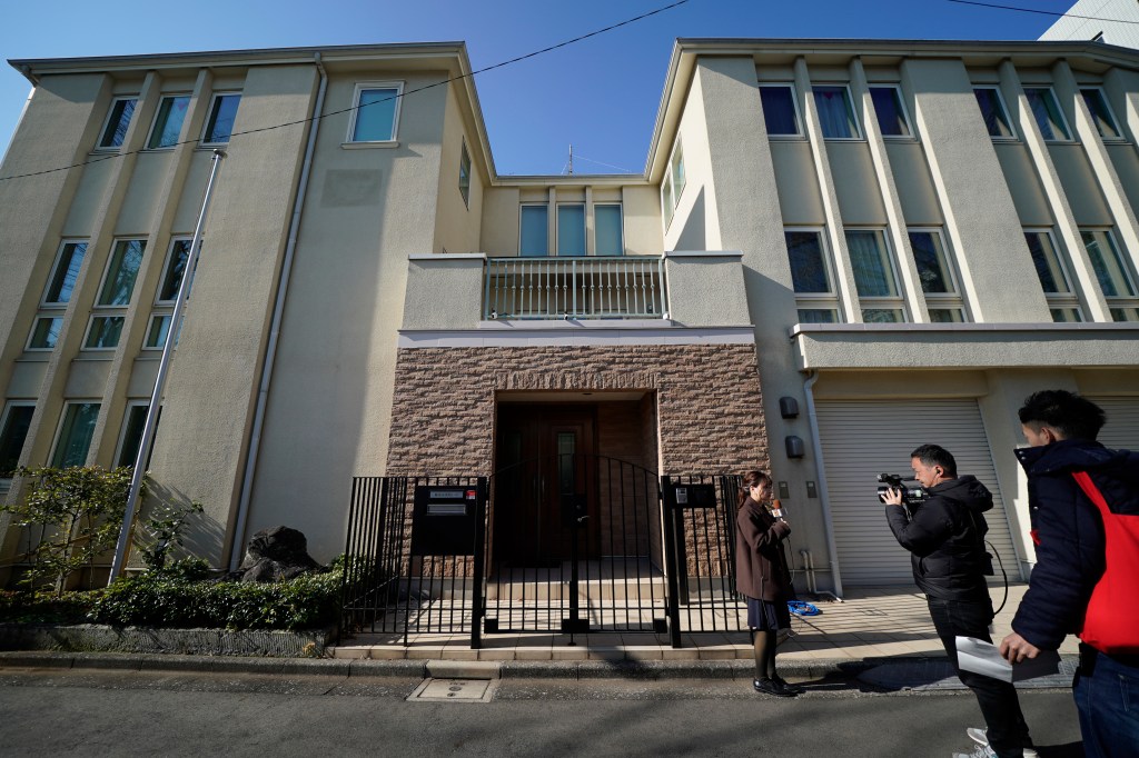
[{"label": "black hooded jacket on the man holding the video camera", "polygon": [[988,601],[983,512],[993,496],[974,476],[942,481],[928,489],[929,499],[904,508],[886,505],[886,519],[898,543],[912,553],[913,580],[921,592],[939,600]]}]

